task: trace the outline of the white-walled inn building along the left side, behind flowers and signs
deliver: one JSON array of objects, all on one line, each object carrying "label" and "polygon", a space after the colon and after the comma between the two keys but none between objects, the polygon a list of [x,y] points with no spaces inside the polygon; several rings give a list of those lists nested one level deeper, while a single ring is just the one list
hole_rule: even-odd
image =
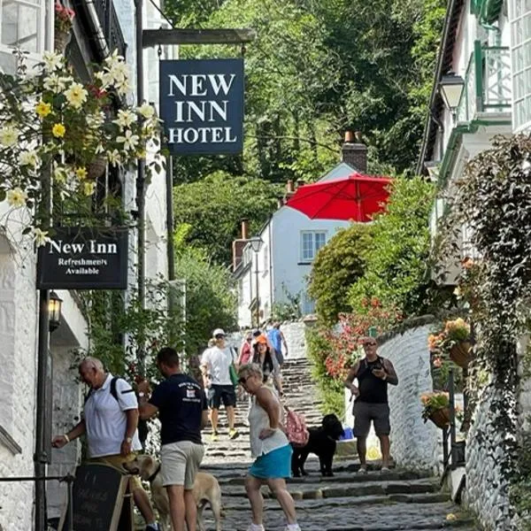
[{"label": "white-walled inn building along the left side, behind flowers and signs", "polygon": [[[158,2],[156,2],[158,4]],[[76,12],[72,40],[66,57],[75,73],[89,81],[89,64],[101,62],[109,50],[125,55],[134,86],[127,96],[135,104],[135,3],[133,0],[73,0]],[[43,50],[53,48],[53,0],[28,4],[14,0],[0,10],[0,69],[14,73],[12,47],[30,52],[29,62],[40,60]],[[108,18],[106,18],[108,15]],[[144,4],[144,27],[162,27],[156,7]],[[163,50],[164,57],[172,50]],[[144,94],[158,104],[157,50],[144,50]],[[104,176],[106,190],[113,189],[128,211],[135,211],[135,173],[121,175],[111,169]],[[161,173],[146,190],[146,276],[167,275],[166,182]],[[0,215],[6,204],[0,203]],[[0,477],[33,476],[35,473],[36,371],[39,297],[35,289],[36,259],[31,239],[19,240],[11,227],[0,233]],[[130,288],[135,289],[135,230],[129,232]],[[64,433],[79,420],[82,389],[73,368],[73,350],[88,347],[87,323],[75,291],[56,290],[63,299],[62,319],[50,335],[52,386],[49,411],[52,426],[48,435]],[[51,450],[49,475],[73,473],[80,458],[80,443]],[[47,483],[48,518],[57,518],[63,507],[65,486]],[[35,485],[31,481],[0,482],[0,528],[34,529]]]}]

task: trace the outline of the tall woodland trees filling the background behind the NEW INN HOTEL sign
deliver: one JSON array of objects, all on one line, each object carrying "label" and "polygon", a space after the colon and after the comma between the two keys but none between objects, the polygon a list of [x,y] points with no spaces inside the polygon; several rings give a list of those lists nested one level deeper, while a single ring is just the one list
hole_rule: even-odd
[{"label": "tall woodland trees filling the background behind the NEW INN HOTEL sign", "polygon": [[[417,158],[444,0],[168,0],[180,27],[251,27],[245,50],[242,157],[178,158],[190,182],[221,170],[268,181],[314,181],[338,161],[342,132],[359,130],[372,172]],[[183,57],[234,57],[228,46]]]}]

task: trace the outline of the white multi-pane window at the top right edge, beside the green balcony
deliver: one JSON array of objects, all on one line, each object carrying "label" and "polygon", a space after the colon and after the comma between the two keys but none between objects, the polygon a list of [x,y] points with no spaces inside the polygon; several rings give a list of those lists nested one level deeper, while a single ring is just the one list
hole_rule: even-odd
[{"label": "white multi-pane window at the top right edge, beside the green balcony", "polygon": [[531,122],[531,2],[511,2],[512,119],[515,129]]}]

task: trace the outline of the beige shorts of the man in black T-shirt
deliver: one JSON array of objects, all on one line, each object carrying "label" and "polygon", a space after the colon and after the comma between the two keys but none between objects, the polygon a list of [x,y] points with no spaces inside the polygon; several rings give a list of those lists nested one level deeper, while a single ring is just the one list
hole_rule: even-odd
[{"label": "beige shorts of the man in black T-shirt", "polygon": [[204,456],[203,444],[191,441],[163,444],[160,449],[160,477],[162,484],[194,488],[194,481]]}]

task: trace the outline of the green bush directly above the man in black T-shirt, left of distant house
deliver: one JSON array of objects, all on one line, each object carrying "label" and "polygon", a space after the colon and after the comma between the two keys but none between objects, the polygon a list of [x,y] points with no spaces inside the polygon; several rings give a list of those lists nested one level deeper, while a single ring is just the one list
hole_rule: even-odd
[{"label": "green bush directly above the man in black T-shirt, left of distant house", "polygon": [[212,337],[212,330],[235,327],[236,301],[230,273],[213,264],[203,250],[177,248],[175,275],[186,282],[185,350],[196,356]]}]

